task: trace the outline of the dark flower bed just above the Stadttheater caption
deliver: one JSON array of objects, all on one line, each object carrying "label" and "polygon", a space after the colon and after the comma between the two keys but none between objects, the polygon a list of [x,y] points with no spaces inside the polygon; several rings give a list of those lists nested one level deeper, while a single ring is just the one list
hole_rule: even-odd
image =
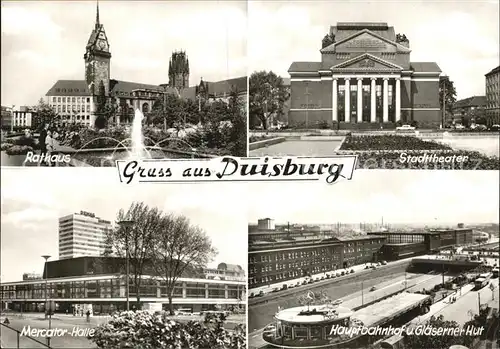
[{"label": "dark flower bed just above the Stadttheater caption", "polygon": [[437,142],[403,135],[348,135],[340,150],[451,150]]}]

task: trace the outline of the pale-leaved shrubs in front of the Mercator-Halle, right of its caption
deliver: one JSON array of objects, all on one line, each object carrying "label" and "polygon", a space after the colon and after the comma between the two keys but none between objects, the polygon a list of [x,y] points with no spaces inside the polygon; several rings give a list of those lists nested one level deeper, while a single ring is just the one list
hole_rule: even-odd
[{"label": "pale-leaved shrubs in front of the Mercator-Halle, right of its caption", "polygon": [[210,324],[195,321],[180,323],[171,320],[166,312],[151,314],[147,311],[122,312],[95,329],[89,340],[99,348],[246,348],[246,335],[243,326],[234,332],[223,328],[220,318]]}]

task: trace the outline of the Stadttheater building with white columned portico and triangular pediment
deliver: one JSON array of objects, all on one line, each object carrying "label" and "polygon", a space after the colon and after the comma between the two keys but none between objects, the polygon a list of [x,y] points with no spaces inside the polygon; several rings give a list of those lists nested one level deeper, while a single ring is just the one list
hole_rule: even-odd
[{"label": "Stadttheater building with white columned portico and triangular pediment", "polygon": [[387,23],[337,23],[320,62],[293,62],[289,124],[438,128],[439,77],[434,62],[411,62],[410,43]]}]

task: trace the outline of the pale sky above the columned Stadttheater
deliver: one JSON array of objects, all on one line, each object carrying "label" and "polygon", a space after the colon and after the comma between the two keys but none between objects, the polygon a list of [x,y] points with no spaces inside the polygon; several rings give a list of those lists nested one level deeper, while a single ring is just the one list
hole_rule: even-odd
[{"label": "pale sky above the columned Stadttheater", "polygon": [[[321,40],[337,22],[386,22],[410,41],[410,60],[436,62],[457,100],[485,94],[499,65],[499,1],[255,1],[248,6],[250,71],[282,77],[294,61],[321,61]],[[258,18],[258,20],[253,20]]]}]

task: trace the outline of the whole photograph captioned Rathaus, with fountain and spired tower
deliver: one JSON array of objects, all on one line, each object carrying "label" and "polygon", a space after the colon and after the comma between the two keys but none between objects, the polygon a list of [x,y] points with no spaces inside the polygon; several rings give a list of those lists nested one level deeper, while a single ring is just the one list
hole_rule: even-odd
[{"label": "whole photograph captioned Rathaus, with fountain and spired tower", "polygon": [[247,155],[247,2],[2,1],[2,166]]}]

